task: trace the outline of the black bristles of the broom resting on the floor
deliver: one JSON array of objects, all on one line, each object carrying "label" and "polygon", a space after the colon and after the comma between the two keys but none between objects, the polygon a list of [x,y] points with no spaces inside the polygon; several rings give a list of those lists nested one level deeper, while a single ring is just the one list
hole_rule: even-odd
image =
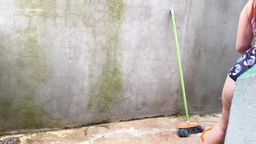
[{"label": "black bristles of the broom resting on the floor", "polygon": [[202,133],[204,128],[202,126],[194,126],[190,128],[179,128],[178,129],[178,136],[181,138],[186,138],[190,136],[190,134],[198,134]]}]

